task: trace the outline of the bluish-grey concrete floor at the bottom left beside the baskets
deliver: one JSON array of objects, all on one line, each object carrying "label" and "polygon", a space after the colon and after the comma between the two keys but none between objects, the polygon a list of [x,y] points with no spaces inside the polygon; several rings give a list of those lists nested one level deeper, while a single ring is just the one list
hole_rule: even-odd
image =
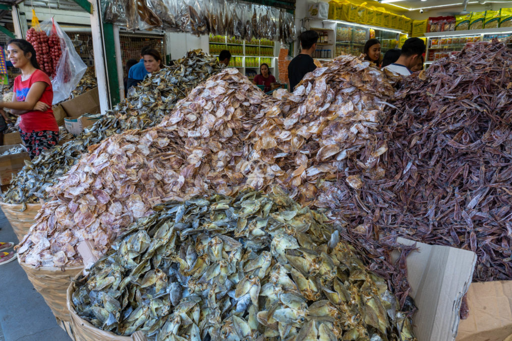
[{"label": "bluish-grey concrete floor at the bottom left beside the baskets", "polygon": [[[0,241],[17,243],[16,235],[1,210],[0,228]],[[71,339],[57,325],[52,311],[17,261],[0,265],[0,278],[0,341]]]}]

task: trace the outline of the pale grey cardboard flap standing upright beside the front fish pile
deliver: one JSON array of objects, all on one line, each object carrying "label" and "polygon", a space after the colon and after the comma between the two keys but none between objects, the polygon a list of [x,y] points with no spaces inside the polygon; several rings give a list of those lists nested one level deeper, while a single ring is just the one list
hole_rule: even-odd
[{"label": "pale grey cardboard flap standing upright beside the front fish pile", "polygon": [[[404,238],[397,241],[415,243]],[[418,307],[413,316],[414,332],[418,341],[452,341],[457,335],[460,304],[471,284],[477,255],[450,246],[416,242],[416,247],[407,257],[410,295]]]}]

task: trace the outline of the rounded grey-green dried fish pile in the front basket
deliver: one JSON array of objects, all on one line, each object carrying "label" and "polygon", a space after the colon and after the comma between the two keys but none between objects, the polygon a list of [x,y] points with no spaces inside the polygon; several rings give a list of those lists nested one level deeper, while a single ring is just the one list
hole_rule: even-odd
[{"label": "rounded grey-green dried fish pile in the front basket", "polygon": [[385,280],[324,215],[278,188],[155,210],[76,282],[76,312],[100,329],[155,340],[416,340]]}]

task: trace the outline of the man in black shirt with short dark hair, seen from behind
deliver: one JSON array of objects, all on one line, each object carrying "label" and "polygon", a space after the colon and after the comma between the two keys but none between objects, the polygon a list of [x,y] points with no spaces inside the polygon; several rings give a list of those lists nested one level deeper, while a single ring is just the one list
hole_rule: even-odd
[{"label": "man in black shirt with short dark hair, seen from behind", "polygon": [[302,50],[288,65],[288,81],[290,83],[290,92],[293,92],[295,85],[300,83],[304,76],[316,69],[313,62],[313,52],[316,50],[316,41],[318,33],[315,31],[304,31],[298,37],[301,39]]}]

